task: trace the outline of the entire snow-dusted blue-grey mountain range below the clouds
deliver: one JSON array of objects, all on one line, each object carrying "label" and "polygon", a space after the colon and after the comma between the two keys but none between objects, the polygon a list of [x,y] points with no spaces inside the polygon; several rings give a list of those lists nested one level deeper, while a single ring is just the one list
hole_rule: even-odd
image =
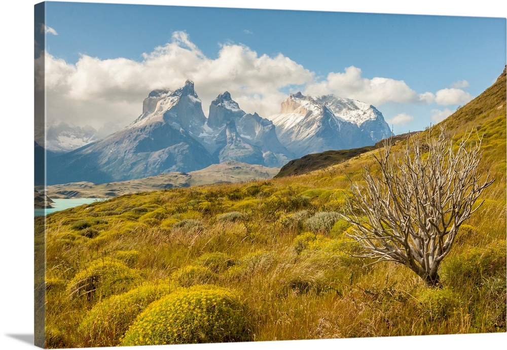
[{"label": "entire snow-dusted blue-grey mountain range below the clouds", "polygon": [[[374,106],[333,95],[291,94],[280,113],[262,118],[246,113],[226,91],[211,102],[206,118],[187,81],[175,91],[150,92],[142,107],[136,120],[110,136],[48,157],[47,184],[124,181],[228,161],[281,167],[308,153],[373,145],[391,135]],[[58,136],[67,145],[88,137],[77,131],[76,137]]]}]

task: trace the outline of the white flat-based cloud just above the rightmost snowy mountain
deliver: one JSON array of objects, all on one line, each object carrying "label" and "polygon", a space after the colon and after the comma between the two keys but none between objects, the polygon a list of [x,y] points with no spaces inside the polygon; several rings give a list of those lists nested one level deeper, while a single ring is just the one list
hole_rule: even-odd
[{"label": "white flat-based cloud just above the rightmost snowy mountain", "polygon": [[386,77],[367,79],[361,69],[350,66],[344,72],[331,72],[325,81],[311,84],[305,93],[309,95],[336,94],[363,102],[380,105],[386,102],[418,101],[417,93],[402,80]]}]

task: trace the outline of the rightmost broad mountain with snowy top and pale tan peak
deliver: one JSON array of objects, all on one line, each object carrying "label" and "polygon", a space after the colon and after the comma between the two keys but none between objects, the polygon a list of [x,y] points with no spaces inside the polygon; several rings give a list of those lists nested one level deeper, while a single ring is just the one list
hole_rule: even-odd
[{"label": "rightmost broad mountain with snowy top and pale tan peak", "polygon": [[269,117],[280,142],[297,157],[373,145],[392,135],[382,113],[367,103],[334,95],[291,94]]}]

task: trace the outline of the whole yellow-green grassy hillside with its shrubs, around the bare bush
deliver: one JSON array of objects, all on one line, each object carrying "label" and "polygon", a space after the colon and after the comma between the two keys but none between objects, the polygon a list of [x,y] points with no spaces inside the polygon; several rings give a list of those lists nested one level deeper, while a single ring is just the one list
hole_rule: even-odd
[{"label": "whole yellow-green grassy hillside with its shrubs, around the bare bush", "polygon": [[373,150],[303,175],[48,215],[46,346],[505,332],[505,102],[504,70],[444,122],[456,140],[478,129],[479,170],[495,182],[440,267],[443,288],[350,255],[338,213]]}]

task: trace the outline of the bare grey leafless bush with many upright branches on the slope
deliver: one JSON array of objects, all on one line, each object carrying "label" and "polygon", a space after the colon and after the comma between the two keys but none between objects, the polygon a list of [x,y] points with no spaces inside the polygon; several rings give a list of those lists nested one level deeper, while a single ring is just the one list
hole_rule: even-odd
[{"label": "bare grey leafless bush with many upright branches on the slope", "polygon": [[[445,129],[422,143],[407,140],[399,154],[390,142],[375,155],[378,169],[363,170],[364,186],[352,185],[343,218],[352,223],[355,256],[404,264],[428,287],[440,286],[438,269],[459,226],[474,213],[482,191],[494,179],[480,174],[481,139],[472,132],[453,144]],[[482,204],[482,203],[481,203]]]}]

